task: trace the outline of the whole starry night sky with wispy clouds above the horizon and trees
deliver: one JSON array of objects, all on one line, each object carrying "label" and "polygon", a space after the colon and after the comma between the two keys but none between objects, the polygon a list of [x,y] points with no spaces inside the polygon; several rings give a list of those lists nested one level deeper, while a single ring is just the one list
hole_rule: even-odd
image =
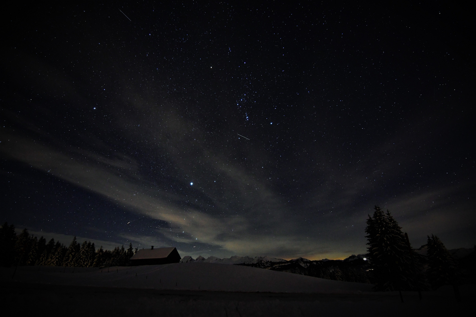
[{"label": "whole starry night sky with wispy clouds above the horizon and trees", "polygon": [[470,10],[198,2],[5,9],[1,222],[343,259],[378,204],[414,247],[475,244]]}]

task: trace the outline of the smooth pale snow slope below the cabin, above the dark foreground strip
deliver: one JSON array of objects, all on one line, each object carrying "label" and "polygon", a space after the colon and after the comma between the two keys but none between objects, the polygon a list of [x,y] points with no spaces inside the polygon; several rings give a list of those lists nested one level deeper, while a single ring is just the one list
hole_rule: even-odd
[{"label": "smooth pale snow slope below the cabin, above the dark foreground strip", "polygon": [[[14,268],[1,268],[0,278],[11,280],[13,271]],[[13,280],[55,285],[228,292],[351,294],[372,291],[370,284],[200,262],[114,267],[109,268],[109,273],[107,268],[101,272],[97,268],[19,267]]]}]

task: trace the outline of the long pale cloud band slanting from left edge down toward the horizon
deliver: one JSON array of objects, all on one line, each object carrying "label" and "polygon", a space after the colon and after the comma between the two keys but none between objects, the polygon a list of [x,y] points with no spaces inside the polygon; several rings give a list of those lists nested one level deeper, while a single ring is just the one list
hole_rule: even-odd
[{"label": "long pale cloud band slanting from left edge down toward the horizon", "polygon": [[[74,156],[77,155],[74,152],[67,155],[24,137],[13,134],[4,134],[4,136],[7,141],[3,143],[2,150],[10,158],[28,163],[34,168],[60,179],[106,196],[118,205],[126,206],[147,217],[166,221],[171,227],[170,231],[157,229],[157,232],[169,240],[189,244],[199,242],[216,245],[238,254],[244,254],[247,251],[272,252],[276,248],[270,246],[275,245],[280,246],[278,249],[281,250],[285,249],[283,247],[285,244],[297,245],[297,243],[288,242],[277,243],[276,240],[271,241],[266,236],[263,237],[259,234],[254,234],[254,237],[250,239],[249,232],[247,232],[250,224],[246,217],[215,217],[193,208],[177,206],[173,201],[178,201],[183,197],[176,197],[176,195],[158,191],[157,188],[144,186],[137,175],[125,172],[129,169],[124,169],[126,163],[121,160],[111,160],[100,157],[98,154],[90,154],[87,157],[84,152],[81,157]],[[107,164],[110,164],[109,166],[112,168],[106,168]],[[134,163],[129,163],[129,165],[135,166]],[[118,166],[122,167],[119,171],[117,170]],[[225,172],[225,170],[228,175],[236,176],[238,174],[240,182],[250,182],[244,174],[236,170],[232,172],[231,167],[219,169],[221,172]],[[258,207],[272,193],[265,192],[261,195],[263,197],[261,197]],[[217,202],[217,205],[219,204],[220,202]],[[225,206],[226,203],[223,202],[223,205]],[[252,207],[248,206],[248,208]],[[176,233],[179,231],[184,231],[185,234],[177,237]]]}]

